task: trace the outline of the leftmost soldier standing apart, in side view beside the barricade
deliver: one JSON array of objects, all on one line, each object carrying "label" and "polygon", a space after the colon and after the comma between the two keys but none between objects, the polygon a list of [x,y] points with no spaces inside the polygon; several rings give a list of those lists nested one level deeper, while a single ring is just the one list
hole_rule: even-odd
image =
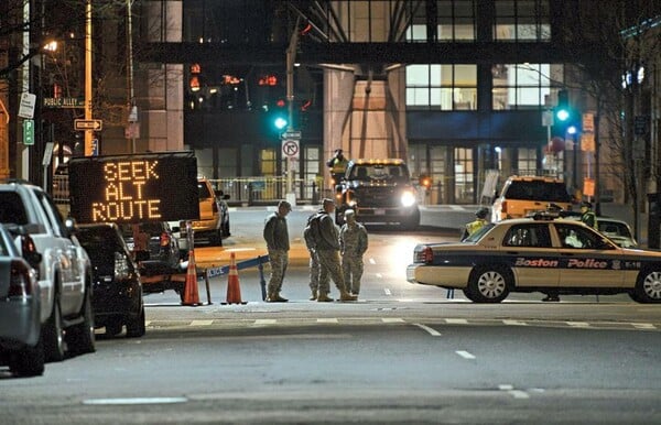
[{"label": "leftmost soldier standing apart, in side view beside the barricade", "polygon": [[286,200],[281,200],[278,204],[278,211],[269,216],[264,225],[263,236],[267,241],[269,261],[271,263],[271,277],[269,279],[267,298],[269,303],[286,303],[289,301],[280,296],[280,291],[289,264],[290,244],[285,217],[291,210],[291,204]]}]

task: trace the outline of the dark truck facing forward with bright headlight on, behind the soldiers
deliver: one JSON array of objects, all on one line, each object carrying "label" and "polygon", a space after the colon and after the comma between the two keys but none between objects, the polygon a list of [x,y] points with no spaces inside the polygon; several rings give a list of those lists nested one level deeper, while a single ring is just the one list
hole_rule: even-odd
[{"label": "dark truck facing forward with bright headlight on, behind the soldiers", "polygon": [[349,208],[364,224],[398,222],[408,230],[420,224],[418,193],[402,160],[350,161],[344,178],[335,188],[337,225],[344,224],[344,211]]}]

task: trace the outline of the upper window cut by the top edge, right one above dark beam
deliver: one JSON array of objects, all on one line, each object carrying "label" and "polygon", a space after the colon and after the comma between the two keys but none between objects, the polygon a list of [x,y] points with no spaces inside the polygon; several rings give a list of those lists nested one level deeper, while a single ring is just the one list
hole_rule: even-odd
[{"label": "upper window cut by the top edge, right one above dark beam", "polygon": [[496,41],[550,41],[549,0],[496,0]]}]

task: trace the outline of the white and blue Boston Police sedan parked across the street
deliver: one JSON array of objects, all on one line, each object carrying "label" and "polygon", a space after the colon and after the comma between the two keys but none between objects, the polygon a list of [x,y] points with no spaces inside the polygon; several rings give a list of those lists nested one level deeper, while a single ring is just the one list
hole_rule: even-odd
[{"label": "white and blue Boston Police sedan parked across the street", "polygon": [[538,214],[489,224],[458,243],[419,244],[411,283],[463,290],[476,303],[510,292],[628,293],[661,302],[661,252],[621,248],[583,222]]}]

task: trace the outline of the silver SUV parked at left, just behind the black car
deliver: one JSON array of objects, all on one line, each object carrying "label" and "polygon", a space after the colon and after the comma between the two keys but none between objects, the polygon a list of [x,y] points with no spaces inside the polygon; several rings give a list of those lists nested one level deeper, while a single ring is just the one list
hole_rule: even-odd
[{"label": "silver SUV parked at left, just behind the black car", "polygon": [[8,179],[0,183],[0,222],[26,229],[41,253],[37,280],[46,358],[62,361],[67,350],[95,351],[91,265],[87,252],[73,237],[74,220],[65,222],[41,187]]}]

